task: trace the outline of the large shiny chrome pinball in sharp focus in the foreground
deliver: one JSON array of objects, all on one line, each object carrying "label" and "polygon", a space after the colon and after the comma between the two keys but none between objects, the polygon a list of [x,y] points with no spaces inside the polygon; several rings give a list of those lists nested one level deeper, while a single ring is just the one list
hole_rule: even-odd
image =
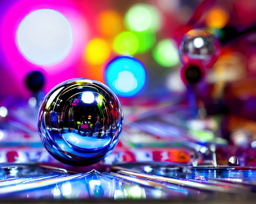
[{"label": "large shiny chrome pinball in sharp focus in the foreground", "polygon": [[90,79],[54,87],[38,112],[38,131],[48,152],[69,165],[86,166],[108,156],[118,142],[123,113],[116,95]]}]

